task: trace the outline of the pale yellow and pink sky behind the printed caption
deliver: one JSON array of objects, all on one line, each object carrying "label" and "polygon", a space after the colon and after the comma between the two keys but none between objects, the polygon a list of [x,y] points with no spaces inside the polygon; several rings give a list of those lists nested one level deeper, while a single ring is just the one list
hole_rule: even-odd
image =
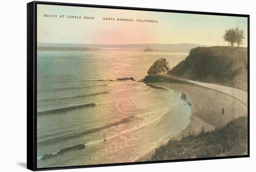
[{"label": "pale yellow and pink sky behind the printed caption", "polygon": [[[57,17],[45,17],[57,15]],[[60,18],[64,15],[64,18]],[[81,16],[70,19],[69,16]],[[84,16],[94,19],[83,19]],[[103,20],[103,18],[115,18]],[[117,21],[133,19],[132,21]],[[157,20],[137,22],[137,19]],[[71,44],[180,44],[228,45],[225,30],[239,26],[245,33],[247,18],[203,14],[149,12],[78,6],[37,5],[37,41]]]}]

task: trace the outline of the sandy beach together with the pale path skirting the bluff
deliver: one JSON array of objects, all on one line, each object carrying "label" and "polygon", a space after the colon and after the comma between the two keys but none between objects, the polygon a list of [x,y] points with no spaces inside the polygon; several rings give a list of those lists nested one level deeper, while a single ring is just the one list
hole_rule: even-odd
[{"label": "sandy beach together with the pale path skirting the bluff", "polygon": [[[176,78],[166,74],[163,77]],[[150,83],[152,85],[172,89],[184,93],[191,103],[192,114],[189,125],[175,136],[175,139],[181,139],[182,135],[189,133],[197,134],[202,130],[212,131],[218,127],[226,125],[229,121],[247,115],[247,92],[240,89],[226,87],[212,83],[200,83],[185,79],[176,78],[184,83]],[[192,83],[192,84],[191,84]],[[224,115],[222,108],[225,109]],[[170,138],[162,141],[166,143]],[[156,147],[155,147],[156,148]],[[155,149],[141,155],[136,161],[146,161]]]}]

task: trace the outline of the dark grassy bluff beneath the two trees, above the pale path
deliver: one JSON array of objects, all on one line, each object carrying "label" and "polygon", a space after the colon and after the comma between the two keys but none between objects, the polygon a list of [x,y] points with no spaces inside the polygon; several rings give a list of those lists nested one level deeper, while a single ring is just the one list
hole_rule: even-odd
[{"label": "dark grassy bluff beneath the two trees, above the pale path", "polygon": [[247,90],[247,48],[197,47],[168,74]]}]

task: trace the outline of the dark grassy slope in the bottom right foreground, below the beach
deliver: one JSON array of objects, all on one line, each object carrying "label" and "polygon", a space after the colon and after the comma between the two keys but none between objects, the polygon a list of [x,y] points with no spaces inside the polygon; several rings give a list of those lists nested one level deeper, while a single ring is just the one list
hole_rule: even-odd
[{"label": "dark grassy slope in the bottom right foreground, below the beach", "polygon": [[171,139],[155,150],[149,160],[188,159],[247,154],[247,117],[230,121],[212,132],[189,134],[182,140]]}]

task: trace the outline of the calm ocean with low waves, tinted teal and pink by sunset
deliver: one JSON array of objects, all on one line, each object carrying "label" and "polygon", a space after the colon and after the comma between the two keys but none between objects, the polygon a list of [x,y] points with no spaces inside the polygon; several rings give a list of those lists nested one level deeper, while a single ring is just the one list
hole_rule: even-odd
[{"label": "calm ocean with low waves, tinted teal and pink by sunset", "polygon": [[[172,68],[188,54],[37,51],[37,167],[133,162],[178,134],[189,124],[189,103],[141,79],[157,59]],[[117,81],[124,77],[135,81]]]}]

